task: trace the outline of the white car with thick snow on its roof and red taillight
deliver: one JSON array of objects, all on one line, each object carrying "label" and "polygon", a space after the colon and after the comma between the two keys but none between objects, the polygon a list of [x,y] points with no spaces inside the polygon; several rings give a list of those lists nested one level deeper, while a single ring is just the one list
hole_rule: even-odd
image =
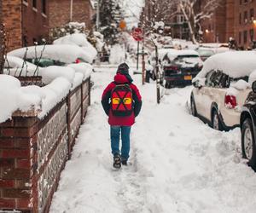
[{"label": "white car with thick snow on its roof and red taillight", "polygon": [[193,79],[192,114],[215,130],[239,126],[241,106],[251,91],[248,81],[256,69],[255,58],[253,51],[230,51],[208,58]]}]

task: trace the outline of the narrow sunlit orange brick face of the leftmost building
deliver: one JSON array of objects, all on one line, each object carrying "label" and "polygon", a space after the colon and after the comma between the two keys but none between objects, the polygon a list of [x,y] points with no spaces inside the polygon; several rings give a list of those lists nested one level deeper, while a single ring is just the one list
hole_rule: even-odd
[{"label": "narrow sunlit orange brick face of the leftmost building", "polygon": [[1,1],[3,4],[3,23],[8,33],[8,47],[20,48],[21,43],[21,2],[20,0]]}]

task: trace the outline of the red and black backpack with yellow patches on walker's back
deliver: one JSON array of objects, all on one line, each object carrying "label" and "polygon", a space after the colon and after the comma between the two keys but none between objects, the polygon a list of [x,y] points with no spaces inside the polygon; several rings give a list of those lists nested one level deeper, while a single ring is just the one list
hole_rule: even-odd
[{"label": "red and black backpack with yellow patches on walker's back", "polygon": [[132,90],[129,84],[117,84],[111,93],[113,116],[131,116],[133,111]]}]

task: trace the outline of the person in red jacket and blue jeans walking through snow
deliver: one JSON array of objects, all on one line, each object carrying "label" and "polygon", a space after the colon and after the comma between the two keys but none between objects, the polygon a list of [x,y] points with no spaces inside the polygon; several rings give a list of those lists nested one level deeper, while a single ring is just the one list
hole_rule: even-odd
[{"label": "person in red jacket and blue jeans walking through snow", "polygon": [[[129,66],[122,63],[118,66],[114,81],[108,84],[102,94],[102,107],[108,115],[108,124],[110,124],[113,167],[117,169],[121,164],[127,165],[131,125],[135,123],[143,103],[139,90],[132,81]],[[119,150],[120,135],[121,152]]]}]

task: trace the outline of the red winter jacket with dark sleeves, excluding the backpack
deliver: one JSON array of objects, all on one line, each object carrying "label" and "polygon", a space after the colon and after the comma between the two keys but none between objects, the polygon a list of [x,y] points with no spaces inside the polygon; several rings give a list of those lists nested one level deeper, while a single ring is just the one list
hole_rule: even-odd
[{"label": "red winter jacket with dark sleeves, excluding the backpack", "polygon": [[[112,111],[110,110],[110,98],[112,90],[114,89],[116,84],[124,84],[127,83],[130,85],[130,88],[132,90],[132,98],[134,101],[134,108],[131,116],[127,117],[116,117],[113,116]],[[142,107],[142,97],[139,93],[139,90],[137,89],[137,86],[131,81],[125,77],[123,74],[116,74],[114,77],[114,82],[109,83],[108,87],[104,89],[104,92],[102,94],[102,107],[106,114],[108,115],[108,124],[112,126],[131,126],[135,122],[135,117],[139,114]]]}]

